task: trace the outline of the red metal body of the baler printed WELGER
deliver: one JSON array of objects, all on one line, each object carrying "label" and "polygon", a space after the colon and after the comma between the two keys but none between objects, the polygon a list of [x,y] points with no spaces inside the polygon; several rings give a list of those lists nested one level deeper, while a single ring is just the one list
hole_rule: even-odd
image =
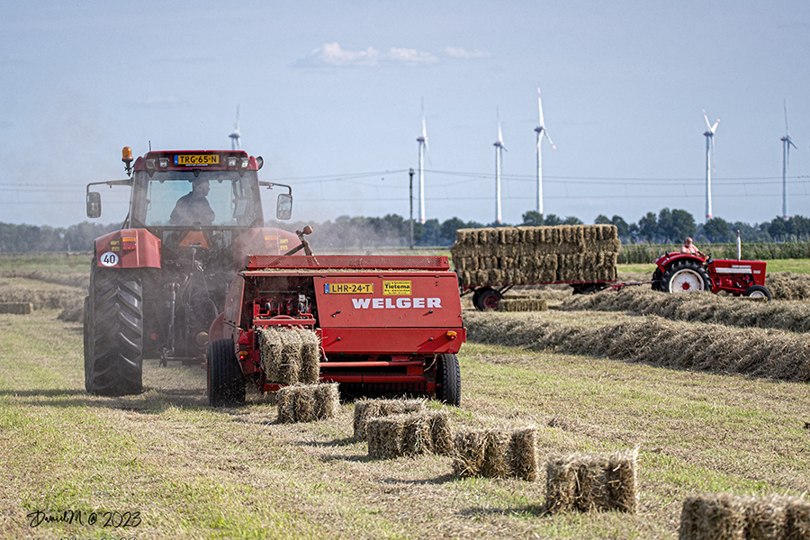
[{"label": "red metal body of the baler printed WELGER", "polygon": [[[286,299],[299,295],[308,311],[289,311]],[[436,357],[457,353],[466,338],[447,257],[251,256],[231,284],[222,333],[265,392],[277,388],[266,382],[257,347],[255,329],[266,325],[313,329],[324,382],[425,392],[436,389]]]}]

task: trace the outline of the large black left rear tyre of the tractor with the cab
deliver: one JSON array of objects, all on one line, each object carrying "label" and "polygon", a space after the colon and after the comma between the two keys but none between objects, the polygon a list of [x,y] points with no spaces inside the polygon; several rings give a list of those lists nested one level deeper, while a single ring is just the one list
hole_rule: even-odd
[{"label": "large black left rear tyre of the tractor with the cab", "polygon": [[85,389],[102,396],[143,392],[143,290],[127,270],[93,272],[85,321]]}]

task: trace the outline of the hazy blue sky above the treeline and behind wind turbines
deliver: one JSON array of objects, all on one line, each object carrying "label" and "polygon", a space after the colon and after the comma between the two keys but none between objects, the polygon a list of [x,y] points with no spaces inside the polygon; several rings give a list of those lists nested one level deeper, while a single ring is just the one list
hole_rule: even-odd
[{"label": "hazy blue sky above the treeline and behind wind turbines", "polygon": [[[781,214],[783,100],[796,142],[788,213],[810,214],[810,4],[727,2],[29,2],[0,20],[0,221],[86,220],[85,184],[121,148],[242,148],[293,184],[296,220],[409,211],[424,100],[428,219],[535,209],[536,88],[545,212],[593,222],[681,208]],[[101,222],[128,193],[103,189]],[[272,203],[266,202],[266,214]],[[416,210],[415,210],[416,211]]]}]

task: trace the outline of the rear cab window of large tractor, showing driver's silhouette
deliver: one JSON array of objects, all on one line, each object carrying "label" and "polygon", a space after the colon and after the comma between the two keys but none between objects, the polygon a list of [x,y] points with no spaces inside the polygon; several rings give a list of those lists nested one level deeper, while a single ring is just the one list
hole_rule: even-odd
[{"label": "rear cab window of large tractor, showing driver's silhouette", "polygon": [[261,216],[254,184],[222,171],[142,175],[133,195],[133,218],[147,227],[247,227]]}]

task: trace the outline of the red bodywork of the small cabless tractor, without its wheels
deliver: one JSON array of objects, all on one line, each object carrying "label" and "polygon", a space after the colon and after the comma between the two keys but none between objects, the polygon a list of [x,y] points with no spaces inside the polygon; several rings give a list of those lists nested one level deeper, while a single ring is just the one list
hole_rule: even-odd
[{"label": "red bodywork of the small cabless tractor, without its wheels", "polygon": [[712,293],[725,291],[743,294],[752,285],[765,286],[765,261],[738,261],[735,259],[706,259],[687,253],[665,253],[655,259],[661,274],[676,261],[689,259],[706,268],[712,282]]}]

